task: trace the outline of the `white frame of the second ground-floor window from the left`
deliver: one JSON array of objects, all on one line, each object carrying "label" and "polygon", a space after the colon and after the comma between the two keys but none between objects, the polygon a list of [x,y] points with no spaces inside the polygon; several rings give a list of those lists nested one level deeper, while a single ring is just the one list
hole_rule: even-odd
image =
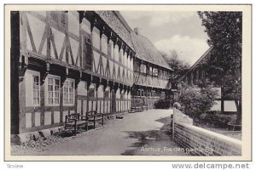
[{"label": "white frame of the second ground-floor window from the left", "polygon": [[[49,78],[52,78],[53,79],[53,103],[52,104],[49,104],[49,89],[48,89],[48,86],[49,86]],[[55,103],[55,80],[59,80],[59,103]],[[44,100],[44,103],[46,106],[58,106],[60,105],[61,103],[61,77],[58,77],[58,76],[54,76],[54,75],[48,75],[46,77],[46,81],[45,81],[45,100]]]}]

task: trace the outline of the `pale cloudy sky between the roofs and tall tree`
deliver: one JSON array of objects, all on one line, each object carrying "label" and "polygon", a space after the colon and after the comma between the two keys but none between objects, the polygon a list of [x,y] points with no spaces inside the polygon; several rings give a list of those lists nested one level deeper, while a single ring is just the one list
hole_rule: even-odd
[{"label": "pale cloudy sky between the roofs and tall tree", "polygon": [[207,33],[196,11],[120,11],[131,29],[141,34],[163,52],[175,49],[178,58],[193,65],[204,54]]}]

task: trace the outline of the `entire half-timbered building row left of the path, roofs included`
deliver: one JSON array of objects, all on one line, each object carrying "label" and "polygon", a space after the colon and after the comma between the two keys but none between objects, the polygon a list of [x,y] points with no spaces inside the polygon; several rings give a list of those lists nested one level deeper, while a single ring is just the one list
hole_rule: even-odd
[{"label": "entire half-timbered building row left of the path, roofs included", "polygon": [[152,105],[172,71],[117,11],[12,12],[11,61],[13,134],[128,111],[131,94]]}]

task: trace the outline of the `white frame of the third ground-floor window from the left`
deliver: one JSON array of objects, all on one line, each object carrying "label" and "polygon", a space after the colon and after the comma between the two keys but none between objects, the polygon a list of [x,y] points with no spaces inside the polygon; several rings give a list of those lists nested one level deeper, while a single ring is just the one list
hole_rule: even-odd
[{"label": "white frame of the third ground-floor window from the left", "polygon": [[[70,85],[73,83],[73,88],[70,87]],[[65,87],[67,85],[67,87]],[[65,96],[66,90],[67,88],[67,98]],[[70,89],[73,89],[73,93],[70,93]],[[73,79],[67,78],[66,81],[63,84],[63,105],[75,105],[75,81]],[[73,94],[72,97],[70,97],[70,95]],[[65,103],[65,99],[67,99],[67,103]],[[73,100],[72,103],[70,103],[70,100]]]}]

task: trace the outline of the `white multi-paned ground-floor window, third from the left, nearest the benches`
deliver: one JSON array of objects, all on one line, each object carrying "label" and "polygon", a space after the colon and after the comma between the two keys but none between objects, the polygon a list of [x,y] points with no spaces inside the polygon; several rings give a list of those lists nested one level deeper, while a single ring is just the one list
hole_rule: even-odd
[{"label": "white multi-paned ground-floor window, third from the left, nearest the benches", "polygon": [[63,104],[74,105],[74,82],[66,80],[63,86]]}]

